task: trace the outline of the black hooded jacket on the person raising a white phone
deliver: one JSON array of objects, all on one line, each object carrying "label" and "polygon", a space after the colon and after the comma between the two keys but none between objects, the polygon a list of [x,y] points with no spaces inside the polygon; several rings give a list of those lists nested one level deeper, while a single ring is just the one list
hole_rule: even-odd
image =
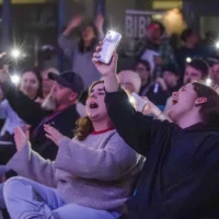
[{"label": "black hooded jacket on the person raising a white phone", "polygon": [[147,158],[123,218],[219,218],[218,129],[143,116],[123,90],[106,93],[105,103],[122,138]]}]

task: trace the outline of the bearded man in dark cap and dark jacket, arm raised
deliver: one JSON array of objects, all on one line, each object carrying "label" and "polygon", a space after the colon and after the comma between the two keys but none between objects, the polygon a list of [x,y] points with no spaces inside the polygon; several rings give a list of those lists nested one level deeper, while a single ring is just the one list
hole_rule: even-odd
[{"label": "bearded man in dark cap and dark jacket, arm raised", "polygon": [[44,125],[50,124],[60,130],[62,135],[72,138],[72,130],[79,118],[76,103],[83,91],[81,77],[72,71],[62,72],[53,79],[56,81],[53,89],[56,107],[54,111],[48,111],[26,97],[16,88],[11,87],[11,81],[7,73],[0,73],[5,99],[18,115],[32,126],[31,142],[33,149],[43,158],[49,160],[56,159],[58,147],[45,137]]}]

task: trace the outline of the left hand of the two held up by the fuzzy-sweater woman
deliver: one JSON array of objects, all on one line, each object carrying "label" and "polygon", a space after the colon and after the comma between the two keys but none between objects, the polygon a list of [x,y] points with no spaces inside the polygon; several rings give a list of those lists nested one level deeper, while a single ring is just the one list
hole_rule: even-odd
[{"label": "left hand of the two held up by the fuzzy-sweater woman", "polygon": [[24,132],[19,127],[14,128],[14,141],[18,151],[21,151],[25,146],[27,146],[28,139],[30,139],[28,130]]}]

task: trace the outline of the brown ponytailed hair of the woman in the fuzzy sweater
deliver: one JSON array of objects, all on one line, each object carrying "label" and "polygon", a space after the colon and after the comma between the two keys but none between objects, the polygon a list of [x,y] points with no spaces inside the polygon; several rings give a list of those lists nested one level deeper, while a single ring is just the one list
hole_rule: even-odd
[{"label": "brown ponytailed hair of the woman in the fuzzy sweater", "polygon": [[[93,82],[89,88],[89,94],[91,93],[93,87],[103,82],[104,82],[103,80]],[[76,122],[74,136],[78,138],[78,140],[84,140],[93,130],[94,130],[93,125],[89,116],[79,118]]]}]

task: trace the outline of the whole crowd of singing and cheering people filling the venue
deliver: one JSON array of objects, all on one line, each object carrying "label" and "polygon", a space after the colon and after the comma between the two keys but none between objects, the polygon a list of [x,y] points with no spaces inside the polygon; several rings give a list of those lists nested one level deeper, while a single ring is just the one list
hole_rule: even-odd
[{"label": "whole crowd of singing and cheering people filling the venue", "polygon": [[218,218],[219,55],[191,28],[173,47],[152,21],[117,72],[119,53],[99,61],[103,24],[60,34],[71,70],[14,85],[0,68],[0,218]]}]

